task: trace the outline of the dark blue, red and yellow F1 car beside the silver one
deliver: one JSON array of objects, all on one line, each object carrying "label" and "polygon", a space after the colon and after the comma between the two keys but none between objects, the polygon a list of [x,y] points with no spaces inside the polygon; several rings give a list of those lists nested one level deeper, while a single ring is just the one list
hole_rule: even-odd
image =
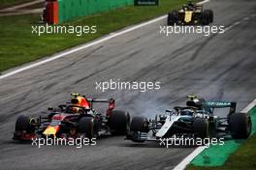
[{"label": "dark blue, red and yellow F1 car beside the silver one", "polygon": [[[107,102],[106,114],[93,109],[93,103]],[[87,99],[80,94],[72,94],[67,104],[58,108],[48,108],[44,116],[21,115],[16,120],[15,140],[31,140],[39,137],[97,138],[101,135],[123,134],[130,124],[129,113],[113,110],[114,99]]]}]

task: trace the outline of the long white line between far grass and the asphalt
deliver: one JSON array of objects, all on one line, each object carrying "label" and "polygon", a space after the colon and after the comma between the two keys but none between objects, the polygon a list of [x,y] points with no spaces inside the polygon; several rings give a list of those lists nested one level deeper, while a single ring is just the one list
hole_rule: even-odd
[{"label": "long white line between far grass and the asphalt", "polygon": [[[203,1],[203,2],[200,2],[200,4],[207,3],[208,1],[209,1],[209,0],[205,0],[205,1]],[[32,68],[35,68],[35,67],[44,65],[44,64],[46,64],[46,63],[48,63],[48,62],[52,62],[52,61],[54,61],[54,60],[56,60],[56,59],[59,59],[59,58],[62,58],[62,57],[64,57],[64,56],[67,56],[67,55],[69,55],[69,54],[78,52],[78,51],[80,51],[81,49],[85,49],[85,48],[91,47],[91,46],[93,46],[93,45],[95,45],[95,44],[98,44],[98,43],[101,43],[101,42],[107,42],[107,41],[109,41],[109,40],[111,40],[111,39],[113,39],[113,38],[116,38],[116,37],[121,36],[121,35],[123,35],[123,34],[129,33],[129,32],[131,32],[131,31],[137,30],[137,29],[142,28],[142,27],[144,27],[144,26],[146,26],[146,25],[149,25],[149,24],[151,24],[151,23],[154,23],[154,22],[157,22],[157,21],[159,21],[159,20],[162,20],[162,19],[164,19],[164,18],[166,18],[166,17],[167,17],[167,14],[166,14],[166,15],[162,15],[162,16],[160,16],[160,17],[157,17],[157,18],[155,18],[155,19],[152,19],[152,20],[143,22],[143,23],[141,23],[141,24],[139,24],[139,25],[135,25],[135,26],[133,26],[133,27],[131,27],[131,28],[127,28],[127,29],[122,30],[122,31],[119,31],[119,32],[114,32],[114,33],[110,34],[109,36],[107,36],[107,37],[105,37],[105,38],[102,38],[102,39],[100,39],[100,40],[98,40],[98,41],[85,43],[85,44],[83,44],[83,45],[81,45],[81,46],[79,46],[79,47],[75,47],[75,48],[70,49],[70,50],[68,50],[68,51],[66,51],[66,52],[62,52],[62,53],[58,53],[58,54],[56,54],[56,55],[53,55],[52,57],[50,57],[50,58],[48,58],[48,59],[46,59],[46,60],[36,62],[36,63],[34,63],[34,64],[31,64],[31,65],[22,67],[22,68],[20,68],[20,69],[16,69],[15,71],[7,72],[7,73],[5,73],[5,74],[3,74],[3,75],[0,75],[0,79],[3,79],[3,78],[6,78],[6,77],[9,77],[9,76],[12,76],[12,75],[14,75],[14,74],[16,74],[16,73],[18,73],[18,72],[21,72],[21,71],[27,71],[27,70],[30,70],[30,69],[32,69]]]}]

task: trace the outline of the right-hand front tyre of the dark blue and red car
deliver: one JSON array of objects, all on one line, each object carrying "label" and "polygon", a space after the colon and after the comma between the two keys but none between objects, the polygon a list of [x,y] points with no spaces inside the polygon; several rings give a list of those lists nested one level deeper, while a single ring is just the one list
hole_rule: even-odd
[{"label": "right-hand front tyre of the dark blue and red car", "polygon": [[98,134],[98,125],[94,118],[92,117],[83,117],[80,118],[79,122],[80,133],[85,134],[85,137],[91,139],[97,137]]}]

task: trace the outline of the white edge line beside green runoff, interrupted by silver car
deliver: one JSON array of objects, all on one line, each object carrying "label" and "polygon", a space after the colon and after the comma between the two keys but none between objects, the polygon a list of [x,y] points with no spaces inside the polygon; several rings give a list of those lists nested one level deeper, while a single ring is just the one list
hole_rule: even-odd
[{"label": "white edge line beside green runoff, interrupted by silver car", "polygon": [[[248,113],[256,105],[256,99],[250,102],[246,107],[244,107],[240,112]],[[180,163],[176,165],[173,170],[183,170],[186,166],[198,155],[200,155],[207,147],[202,146],[195,149],[189,156],[186,156]]]}]

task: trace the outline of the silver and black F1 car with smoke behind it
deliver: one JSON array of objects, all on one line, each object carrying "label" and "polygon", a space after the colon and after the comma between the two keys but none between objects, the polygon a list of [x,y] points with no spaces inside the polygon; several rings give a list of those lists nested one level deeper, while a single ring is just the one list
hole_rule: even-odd
[{"label": "silver and black F1 car with smoke behind it", "polygon": [[[126,139],[134,142],[160,140],[176,136],[191,138],[220,138],[231,135],[234,139],[247,138],[251,132],[251,118],[245,113],[236,113],[236,102],[206,101],[188,96],[186,106],[176,106],[154,120],[134,117]],[[227,117],[213,114],[215,108],[229,108]]]}]

